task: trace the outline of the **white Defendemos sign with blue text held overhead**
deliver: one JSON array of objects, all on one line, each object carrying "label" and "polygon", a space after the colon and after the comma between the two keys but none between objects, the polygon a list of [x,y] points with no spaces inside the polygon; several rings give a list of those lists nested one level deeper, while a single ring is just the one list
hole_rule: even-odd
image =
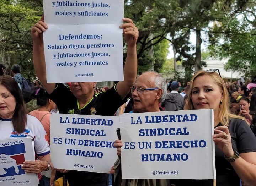
[{"label": "white Defendemos sign with blue text held overhead", "polygon": [[44,0],[48,83],[123,81],[122,0]]}]

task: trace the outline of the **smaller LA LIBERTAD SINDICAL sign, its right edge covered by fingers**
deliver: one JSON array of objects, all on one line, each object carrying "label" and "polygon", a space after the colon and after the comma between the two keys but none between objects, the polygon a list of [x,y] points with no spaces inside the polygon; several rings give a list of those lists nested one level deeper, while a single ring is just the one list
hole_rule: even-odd
[{"label": "smaller LA LIBERTAD SINDICAL sign, its right edge covered by fingers", "polygon": [[113,142],[119,117],[52,114],[50,123],[55,168],[108,173],[117,160]]}]

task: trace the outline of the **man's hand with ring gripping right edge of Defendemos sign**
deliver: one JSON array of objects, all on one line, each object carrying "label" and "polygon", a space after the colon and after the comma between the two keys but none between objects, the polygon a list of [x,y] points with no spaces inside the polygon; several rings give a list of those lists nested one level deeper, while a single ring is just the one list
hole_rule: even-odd
[{"label": "man's hand with ring gripping right edge of Defendemos sign", "polygon": [[124,39],[128,46],[135,46],[139,37],[138,28],[135,27],[133,21],[129,18],[123,18],[123,21],[127,22],[120,25],[120,28],[123,28]]}]

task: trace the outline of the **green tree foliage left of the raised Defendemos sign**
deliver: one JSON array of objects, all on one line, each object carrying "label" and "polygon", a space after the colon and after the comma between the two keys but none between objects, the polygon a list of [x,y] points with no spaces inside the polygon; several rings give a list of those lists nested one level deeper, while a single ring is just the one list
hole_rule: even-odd
[{"label": "green tree foliage left of the raised Defendemos sign", "polygon": [[8,74],[11,65],[17,63],[22,67],[22,73],[33,75],[30,28],[40,14],[42,2],[38,0],[0,1],[0,57]]}]

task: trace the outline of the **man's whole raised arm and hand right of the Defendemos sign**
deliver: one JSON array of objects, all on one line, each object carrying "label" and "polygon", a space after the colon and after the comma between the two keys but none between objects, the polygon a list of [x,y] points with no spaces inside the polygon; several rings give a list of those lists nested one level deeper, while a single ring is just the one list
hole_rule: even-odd
[{"label": "man's whole raised arm and hand right of the Defendemos sign", "polygon": [[129,18],[123,18],[126,22],[120,26],[123,28],[124,39],[127,43],[127,57],[124,66],[124,81],[117,83],[117,92],[122,99],[129,93],[137,76],[137,51],[136,42],[139,37],[139,31],[133,21]]}]

